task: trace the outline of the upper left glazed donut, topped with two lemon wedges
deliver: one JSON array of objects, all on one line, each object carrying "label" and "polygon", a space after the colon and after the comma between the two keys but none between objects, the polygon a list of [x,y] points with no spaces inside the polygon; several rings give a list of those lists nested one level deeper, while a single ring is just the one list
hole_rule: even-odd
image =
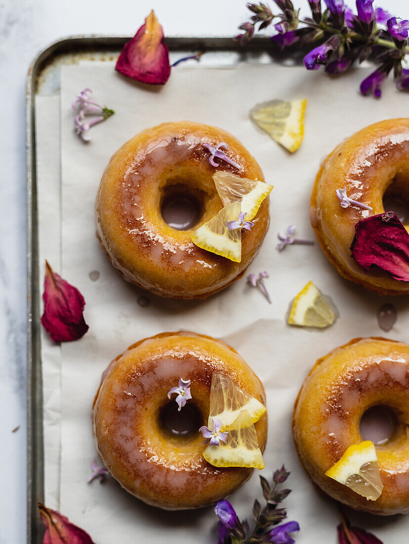
[{"label": "upper left glazed donut, topped with two lemon wedges", "polygon": [[[209,163],[203,144],[225,142],[228,157]],[[222,208],[213,174],[228,171],[264,182],[251,154],[231,134],[193,122],[149,128],[117,151],[101,180],[96,201],[97,234],[126,280],[173,298],[206,298],[243,275],[261,246],[269,222],[266,199],[241,239],[241,262],[198,248],[192,234]],[[164,202],[183,197],[198,208],[196,225],[176,230],[162,217]]]}]

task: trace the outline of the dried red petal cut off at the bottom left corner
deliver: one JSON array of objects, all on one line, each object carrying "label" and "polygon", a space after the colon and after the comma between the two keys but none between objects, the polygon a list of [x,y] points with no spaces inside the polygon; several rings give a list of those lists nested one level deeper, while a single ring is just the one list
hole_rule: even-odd
[{"label": "dried red petal cut off at the bottom left corner", "polygon": [[57,510],[38,503],[41,521],[46,527],[42,544],[95,544],[90,535]]}]

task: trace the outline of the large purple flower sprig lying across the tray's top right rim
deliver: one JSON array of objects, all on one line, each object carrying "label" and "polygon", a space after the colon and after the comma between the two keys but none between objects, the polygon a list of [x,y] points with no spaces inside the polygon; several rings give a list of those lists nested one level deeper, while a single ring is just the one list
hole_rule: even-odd
[{"label": "large purple flower sprig lying across the tray's top right rim", "polygon": [[[381,96],[381,84],[393,72],[396,87],[409,90],[409,70],[402,61],[409,53],[409,21],[392,17],[382,8],[373,7],[374,0],[356,0],[356,14],[344,0],[308,0],[311,17],[299,18],[299,10],[290,0],[274,0],[280,9],[273,14],[268,5],[247,3],[253,14],[250,21],[240,25],[243,33],[234,38],[241,45],[258,30],[274,23],[276,34],[271,41],[284,50],[305,50],[307,70],[318,70],[321,65],[330,75],[338,75],[355,63],[370,58],[376,70],[360,86],[363,95]],[[386,25],[386,26],[385,26]]]}]

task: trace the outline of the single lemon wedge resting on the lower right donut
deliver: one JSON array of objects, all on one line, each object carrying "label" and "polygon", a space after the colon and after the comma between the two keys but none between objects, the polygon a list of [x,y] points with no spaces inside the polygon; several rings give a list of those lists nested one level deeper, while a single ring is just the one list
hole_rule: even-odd
[{"label": "single lemon wedge resting on the lower right donut", "polygon": [[325,475],[368,500],[376,500],[382,493],[375,446],[370,440],[350,446]]}]

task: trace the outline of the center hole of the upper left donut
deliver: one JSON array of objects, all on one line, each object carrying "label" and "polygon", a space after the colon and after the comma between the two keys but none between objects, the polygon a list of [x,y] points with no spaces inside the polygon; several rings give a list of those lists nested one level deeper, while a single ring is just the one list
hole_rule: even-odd
[{"label": "center hole of the upper left donut", "polygon": [[160,214],[171,228],[187,231],[195,227],[202,218],[204,191],[183,182],[168,184],[160,201]]}]

